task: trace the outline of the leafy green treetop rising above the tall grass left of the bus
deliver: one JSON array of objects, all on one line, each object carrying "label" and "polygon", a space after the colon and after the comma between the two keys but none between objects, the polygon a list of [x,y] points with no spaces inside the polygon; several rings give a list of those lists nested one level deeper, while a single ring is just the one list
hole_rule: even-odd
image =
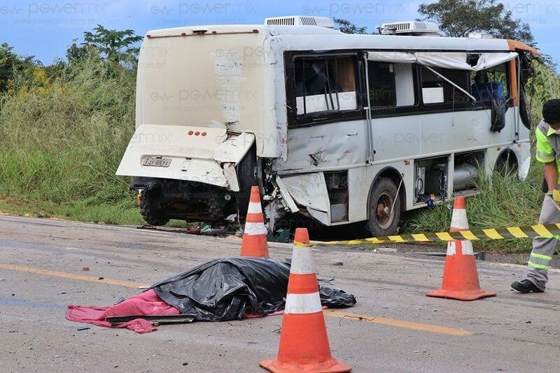
[{"label": "leafy green treetop rising above the tall grass left of the bus", "polygon": [[134,35],[134,30],[109,30],[98,24],[92,31],[83,33],[84,42],[78,45],[76,40],[66,51],[69,63],[98,54],[99,58],[117,64],[135,63],[138,58],[139,47],[136,43],[141,36]]}]

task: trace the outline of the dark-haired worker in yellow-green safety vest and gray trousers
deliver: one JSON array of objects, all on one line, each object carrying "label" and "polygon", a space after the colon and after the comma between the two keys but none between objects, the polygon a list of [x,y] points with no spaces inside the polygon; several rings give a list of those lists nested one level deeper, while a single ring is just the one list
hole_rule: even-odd
[{"label": "dark-haired worker in yellow-green safety vest and gray trousers", "polygon": [[[537,161],[545,163],[547,194],[542,201],[540,224],[560,223],[560,99],[549,100],[542,107],[543,120],[538,124]],[[527,279],[514,281],[512,288],[520,293],[542,293],[548,281],[548,268],[558,239],[535,238],[529,257]]]}]

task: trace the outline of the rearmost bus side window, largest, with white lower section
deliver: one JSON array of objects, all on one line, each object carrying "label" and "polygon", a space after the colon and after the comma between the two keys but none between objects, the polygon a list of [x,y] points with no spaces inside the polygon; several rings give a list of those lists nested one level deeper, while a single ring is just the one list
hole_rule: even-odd
[{"label": "rearmost bus side window, largest, with white lower section", "polygon": [[293,66],[297,115],[356,110],[353,57],[297,57]]}]

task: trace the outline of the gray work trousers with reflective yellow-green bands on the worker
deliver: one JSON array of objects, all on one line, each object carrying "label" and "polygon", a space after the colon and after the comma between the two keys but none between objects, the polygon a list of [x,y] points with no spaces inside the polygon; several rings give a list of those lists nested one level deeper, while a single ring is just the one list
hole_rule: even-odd
[{"label": "gray work trousers with reflective yellow-green bands on the worker", "polygon": [[[560,223],[560,210],[556,207],[552,197],[545,196],[545,200],[542,201],[538,222],[539,224]],[[540,290],[545,290],[548,281],[548,268],[557,245],[558,239],[556,237],[539,237],[533,240],[533,251],[531,251],[528,262],[530,270],[527,277]]]}]

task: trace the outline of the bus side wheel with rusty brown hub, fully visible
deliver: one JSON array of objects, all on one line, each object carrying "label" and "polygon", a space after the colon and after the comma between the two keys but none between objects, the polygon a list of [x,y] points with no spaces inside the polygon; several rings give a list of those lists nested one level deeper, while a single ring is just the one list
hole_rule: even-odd
[{"label": "bus side wheel with rusty brown hub, fully visible", "polygon": [[400,221],[400,198],[397,185],[388,177],[381,177],[370,193],[367,233],[374,237],[393,235]]}]

